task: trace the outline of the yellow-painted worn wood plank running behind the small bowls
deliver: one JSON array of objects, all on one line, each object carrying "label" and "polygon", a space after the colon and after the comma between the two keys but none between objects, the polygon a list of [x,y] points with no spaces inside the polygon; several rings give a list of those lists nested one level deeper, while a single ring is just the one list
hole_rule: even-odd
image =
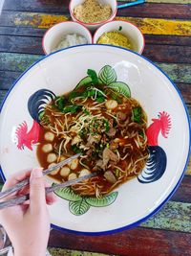
[{"label": "yellow-painted worn wood plank running behind the small bowls", "polygon": [[[1,26],[28,26],[49,28],[53,24],[67,20],[68,16],[40,12],[6,12],[0,16]],[[117,17],[135,23],[143,34],[149,35],[191,35],[191,21],[159,18]]]}]

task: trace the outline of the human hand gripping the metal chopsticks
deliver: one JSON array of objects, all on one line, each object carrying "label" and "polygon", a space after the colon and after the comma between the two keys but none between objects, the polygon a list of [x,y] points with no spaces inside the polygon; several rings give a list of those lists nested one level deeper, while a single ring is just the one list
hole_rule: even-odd
[{"label": "human hand gripping the metal chopsticks", "polygon": [[[45,181],[42,170],[33,169],[12,175],[2,191],[30,176],[30,187],[22,189],[13,196],[21,196],[30,191],[30,200],[22,205],[12,206],[0,211],[0,222],[11,239],[15,256],[45,256],[50,234],[50,217],[47,203],[55,201],[53,194],[45,195]],[[9,196],[4,198],[7,200]],[[3,199],[2,199],[3,200]]]}]

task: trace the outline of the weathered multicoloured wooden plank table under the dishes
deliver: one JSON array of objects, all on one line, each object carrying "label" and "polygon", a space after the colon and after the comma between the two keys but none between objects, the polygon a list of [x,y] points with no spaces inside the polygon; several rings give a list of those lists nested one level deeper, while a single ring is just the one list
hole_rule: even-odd
[{"label": "weathered multicoloured wooden plank table under the dishes", "polygon": [[[180,88],[191,110],[191,0],[148,0],[117,12],[145,35],[143,55]],[[41,40],[53,24],[70,18],[68,0],[6,0],[0,14],[0,103],[11,83],[43,55]],[[53,230],[53,255],[191,255],[191,165],[179,189],[159,213],[137,228],[86,237]],[[60,249],[60,248],[63,248]],[[67,249],[70,249],[68,251]],[[77,251],[75,251],[77,250]]]}]

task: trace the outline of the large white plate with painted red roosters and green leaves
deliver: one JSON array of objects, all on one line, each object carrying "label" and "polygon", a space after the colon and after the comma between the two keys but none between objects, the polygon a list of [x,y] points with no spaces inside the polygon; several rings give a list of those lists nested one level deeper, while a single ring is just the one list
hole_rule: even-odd
[{"label": "large white plate with painted red roosters and green leaves", "polygon": [[35,107],[40,104],[36,103],[50,94],[73,90],[79,81],[86,81],[88,69],[103,81],[117,82],[118,90],[131,93],[148,117],[149,159],[138,177],[100,199],[80,197],[71,189],[58,191],[58,201],[49,207],[53,227],[97,235],[147,220],[173,195],[186,170],[190,125],[177,87],[150,60],[107,45],[58,51],[33,64],[13,84],[2,105],[0,156],[5,179],[39,165]]}]

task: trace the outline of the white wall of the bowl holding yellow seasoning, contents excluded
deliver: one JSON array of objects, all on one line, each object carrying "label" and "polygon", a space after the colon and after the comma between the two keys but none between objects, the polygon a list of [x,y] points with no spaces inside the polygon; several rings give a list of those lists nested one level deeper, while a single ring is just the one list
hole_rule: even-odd
[{"label": "white wall of the bowl holding yellow seasoning, contents excluded", "polygon": [[139,31],[138,27],[127,21],[111,21],[102,25],[96,30],[93,37],[93,43],[97,43],[99,37],[107,32],[118,31],[123,35],[126,35],[134,47],[134,52],[141,54],[144,50],[144,36]]}]

